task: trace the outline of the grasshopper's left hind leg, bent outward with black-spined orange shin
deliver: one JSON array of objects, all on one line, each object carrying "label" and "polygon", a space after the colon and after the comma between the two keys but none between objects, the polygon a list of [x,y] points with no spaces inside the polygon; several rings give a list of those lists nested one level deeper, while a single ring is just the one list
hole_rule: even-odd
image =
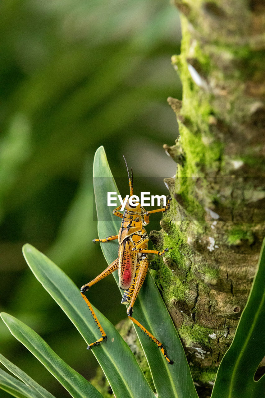
[{"label": "grasshopper's left hind leg, bent outward with black-spined orange shin", "polygon": [[113,261],[113,263],[111,263],[111,265],[109,265],[105,271],[101,272],[101,274],[99,274],[95,279],[93,279],[93,281],[86,283],[86,285],[81,287],[81,296],[84,298],[86,304],[88,305],[88,308],[90,309],[90,312],[95,320],[95,323],[97,324],[97,327],[99,328],[99,332],[101,333],[101,338],[94,341],[93,343],[91,343],[88,346],[88,349],[91,347],[94,347],[94,345],[98,345],[99,343],[101,343],[101,341],[103,340],[107,340],[107,336],[101,326],[101,324],[99,323],[99,320],[97,319],[97,316],[92,308],[92,305],[90,304],[90,302],[88,301],[88,299],[86,298],[86,296],[84,295],[84,293],[92,286],[95,285],[95,283],[97,283],[98,281],[100,281],[101,279],[105,278],[107,275],[110,275],[111,273],[113,273],[113,271],[115,271],[116,269],[118,269],[118,259],[116,259],[115,261]]}]

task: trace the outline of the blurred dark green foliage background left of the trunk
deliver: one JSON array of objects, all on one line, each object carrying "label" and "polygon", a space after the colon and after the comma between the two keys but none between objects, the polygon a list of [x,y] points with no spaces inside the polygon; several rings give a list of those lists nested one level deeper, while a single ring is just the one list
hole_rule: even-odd
[{"label": "blurred dark green foliage background left of the trunk", "polygon": [[[162,145],[178,135],[166,102],[181,98],[170,61],[179,53],[177,10],[169,0],[2,0],[0,27],[0,310],[90,379],[93,354],[27,269],[21,247],[45,252],[78,287],[105,269],[92,244],[100,145],[114,176],[126,178],[124,154],[144,178],[135,193],[168,194],[156,178],[176,169]],[[126,317],[112,277],[89,297],[114,324]],[[58,398],[69,396],[2,321],[0,352]]]}]

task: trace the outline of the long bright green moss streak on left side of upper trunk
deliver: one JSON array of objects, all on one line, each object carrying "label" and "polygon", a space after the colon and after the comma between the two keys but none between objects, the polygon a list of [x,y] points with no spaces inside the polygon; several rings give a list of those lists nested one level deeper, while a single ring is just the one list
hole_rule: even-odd
[{"label": "long bright green moss streak on left side of upper trunk", "polygon": [[[180,144],[183,147],[185,162],[183,167],[178,167],[176,192],[181,195],[185,210],[193,214],[200,222],[204,223],[204,207],[212,201],[209,197],[200,197],[195,189],[195,181],[201,179],[203,192],[209,191],[208,181],[205,176],[220,170],[222,162],[223,144],[218,142],[209,127],[209,118],[213,115],[210,105],[211,94],[201,90],[194,82],[187,67],[187,54],[190,52],[190,33],[187,21],[182,20],[183,39],[181,42],[181,55],[173,57],[177,64],[181,81],[183,82],[183,101],[181,115],[183,123],[179,121]],[[198,62],[201,71],[206,74],[211,69],[211,60],[200,48],[199,43],[193,43],[192,57]],[[196,69],[196,68],[195,68]],[[191,133],[191,131],[193,133]],[[198,183],[197,183],[198,186]]]}]

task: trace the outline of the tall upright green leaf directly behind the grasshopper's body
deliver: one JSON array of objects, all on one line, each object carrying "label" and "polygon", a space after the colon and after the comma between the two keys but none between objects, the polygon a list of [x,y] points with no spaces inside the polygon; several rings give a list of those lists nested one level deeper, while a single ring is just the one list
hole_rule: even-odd
[{"label": "tall upright green leaf directly behind the grasshopper's body", "polygon": [[[113,208],[107,206],[107,192],[116,191],[117,194],[119,192],[109,169],[103,146],[98,148],[95,153],[93,176],[98,234],[99,238],[105,238],[118,233],[121,219],[113,216]],[[102,243],[101,249],[108,264],[117,258],[117,240]],[[113,275],[118,284],[117,271]],[[123,291],[121,293],[123,294]],[[124,312],[125,316],[127,316],[126,310]],[[148,273],[134,304],[134,317],[164,344],[170,359],[174,361],[173,365],[169,365],[155,343],[146,338],[140,329],[136,328],[136,333],[150,366],[158,396],[161,398],[198,397],[181,341],[150,273]],[[111,336],[109,335],[109,337]]]}]

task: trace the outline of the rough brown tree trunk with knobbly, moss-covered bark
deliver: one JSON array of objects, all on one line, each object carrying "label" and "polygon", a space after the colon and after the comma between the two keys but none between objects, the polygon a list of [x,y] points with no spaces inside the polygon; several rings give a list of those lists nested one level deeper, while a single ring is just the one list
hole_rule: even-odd
[{"label": "rough brown tree trunk with knobbly, moss-covered bark", "polygon": [[182,102],[169,98],[179,137],[166,179],[171,209],[150,237],[171,250],[153,276],[208,396],[255,273],[265,220],[265,4],[175,0]]}]

